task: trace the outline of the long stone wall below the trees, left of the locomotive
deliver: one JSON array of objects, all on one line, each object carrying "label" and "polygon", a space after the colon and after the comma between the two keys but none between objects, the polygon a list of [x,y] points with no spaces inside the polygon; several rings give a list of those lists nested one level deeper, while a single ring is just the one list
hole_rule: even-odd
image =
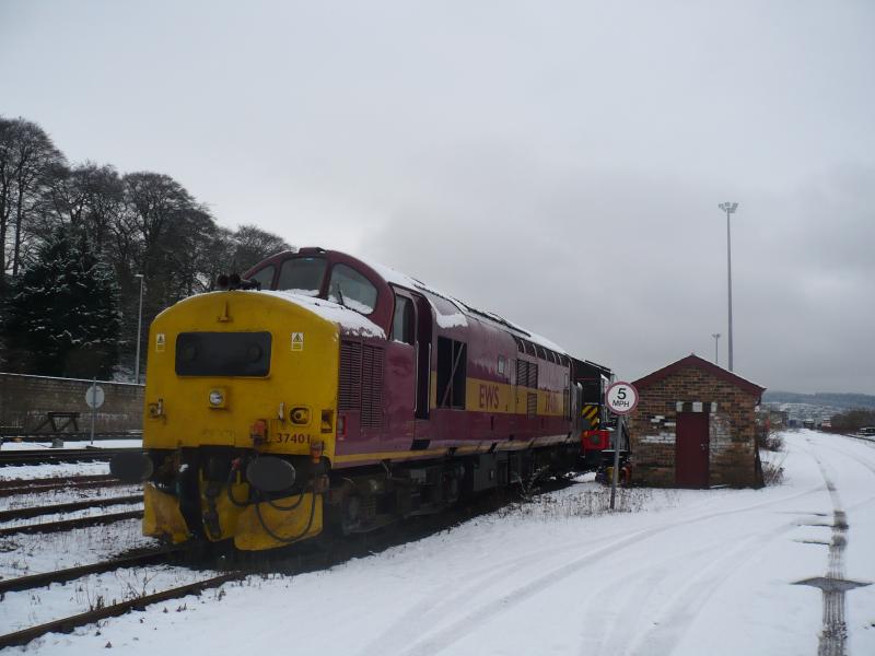
[{"label": "long stone wall below the trees, left of the locomotive", "polygon": [[[91,384],[91,380],[77,378],[0,373],[0,426],[32,432],[46,419],[47,412],[80,412],[79,429],[88,431],[91,409],[85,405],[85,391]],[[97,380],[97,385],[105,400],[97,409],[94,430],[98,433],[142,430],[143,386],[105,380]],[[50,430],[44,426],[40,432]]]}]

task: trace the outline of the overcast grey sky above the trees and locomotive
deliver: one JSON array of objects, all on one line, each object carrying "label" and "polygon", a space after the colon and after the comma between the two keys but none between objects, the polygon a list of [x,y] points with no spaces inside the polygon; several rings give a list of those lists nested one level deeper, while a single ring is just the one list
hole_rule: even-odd
[{"label": "overcast grey sky above the trees and locomotive", "polygon": [[0,0],[0,114],[633,379],[875,394],[875,3]]}]

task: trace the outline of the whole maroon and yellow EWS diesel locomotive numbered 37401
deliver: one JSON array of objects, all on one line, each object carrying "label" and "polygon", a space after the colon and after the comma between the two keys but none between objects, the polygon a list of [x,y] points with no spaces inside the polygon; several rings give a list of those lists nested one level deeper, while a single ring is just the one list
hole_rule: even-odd
[{"label": "whole maroon and yellow EWS diesel locomotive numbered 37401", "polygon": [[151,326],[143,450],[112,464],[144,534],[271,549],[578,466],[592,372],[547,339],[322,248],[222,286]]}]

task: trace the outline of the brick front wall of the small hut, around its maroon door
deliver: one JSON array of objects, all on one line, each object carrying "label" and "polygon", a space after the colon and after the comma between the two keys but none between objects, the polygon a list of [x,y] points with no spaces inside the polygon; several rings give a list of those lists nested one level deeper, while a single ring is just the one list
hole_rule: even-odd
[{"label": "brick front wall of the small hut, around its maroon door", "polygon": [[759,398],[696,366],[684,366],[639,389],[629,431],[634,478],[649,485],[675,484],[678,412],[709,414],[711,485],[759,484],[755,408]]}]

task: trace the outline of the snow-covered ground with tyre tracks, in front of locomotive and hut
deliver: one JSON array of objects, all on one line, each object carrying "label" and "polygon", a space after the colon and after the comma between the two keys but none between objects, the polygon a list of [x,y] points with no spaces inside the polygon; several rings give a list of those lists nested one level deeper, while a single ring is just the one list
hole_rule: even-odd
[{"label": "snow-covered ground with tyre tracks, in front of locomotive and hut", "polygon": [[[250,576],[52,634],[27,651],[816,654],[821,591],[793,584],[826,574],[836,509],[849,526],[847,577],[875,582],[875,444],[812,431],[785,441],[784,480],[773,488],[623,491],[628,512],[608,514],[599,512],[605,491],[581,483],[329,571]],[[124,547],[144,543],[135,534],[121,538]],[[65,540],[45,546],[43,566],[55,566],[58,550],[82,562],[110,551],[94,538]],[[136,589],[142,581],[151,590],[152,575],[145,569],[119,585]],[[45,621],[83,597],[117,596],[105,582],[55,587],[60,596],[7,595],[0,631],[12,630],[8,617],[30,622],[36,612]],[[35,598],[43,610],[33,610]],[[848,653],[875,654],[875,586],[849,591],[845,608]]]}]

